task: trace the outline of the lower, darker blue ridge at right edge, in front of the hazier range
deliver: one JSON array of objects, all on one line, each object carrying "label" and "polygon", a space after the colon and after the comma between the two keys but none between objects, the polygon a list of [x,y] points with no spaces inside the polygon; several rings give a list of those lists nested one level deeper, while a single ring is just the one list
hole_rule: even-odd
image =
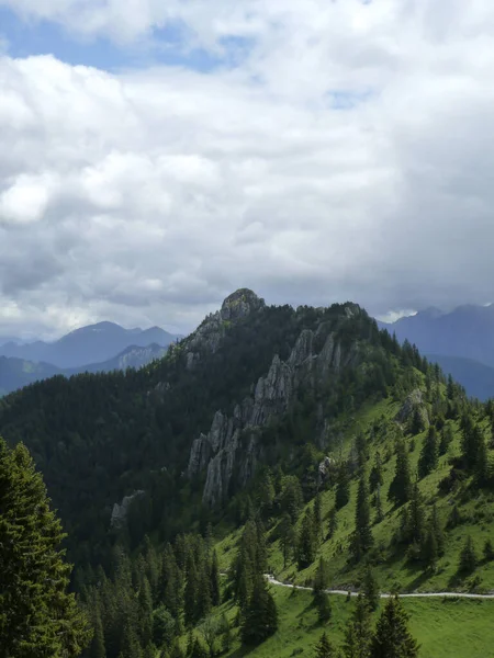
[{"label": "lower, darker blue ridge at right edge, in front of the hazier range", "polygon": [[464,386],[470,396],[480,400],[494,398],[494,367],[464,356],[426,354],[433,363],[439,363],[446,374]]}]

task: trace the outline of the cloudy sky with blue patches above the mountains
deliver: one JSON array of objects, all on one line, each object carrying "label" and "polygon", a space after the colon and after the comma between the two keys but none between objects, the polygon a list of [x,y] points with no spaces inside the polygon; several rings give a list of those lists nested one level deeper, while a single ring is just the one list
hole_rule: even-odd
[{"label": "cloudy sky with blue patches above the mountains", "polygon": [[0,0],[0,334],[493,299],[491,0]]}]

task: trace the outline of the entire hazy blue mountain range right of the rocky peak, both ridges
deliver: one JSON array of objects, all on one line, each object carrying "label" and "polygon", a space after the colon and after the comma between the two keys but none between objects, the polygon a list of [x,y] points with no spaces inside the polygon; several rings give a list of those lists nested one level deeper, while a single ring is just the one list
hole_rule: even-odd
[{"label": "entire hazy blue mountain range right of the rocky peak, both ridges", "polygon": [[427,308],[396,322],[378,324],[401,342],[415,343],[469,395],[494,397],[494,305],[459,306],[450,313]]}]

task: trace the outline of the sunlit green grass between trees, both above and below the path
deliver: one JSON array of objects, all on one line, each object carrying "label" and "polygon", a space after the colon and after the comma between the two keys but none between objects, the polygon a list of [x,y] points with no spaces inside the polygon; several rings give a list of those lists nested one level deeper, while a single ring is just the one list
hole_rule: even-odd
[{"label": "sunlit green grass between trees, both above and below the path", "polygon": [[[424,574],[420,566],[406,559],[406,547],[394,551],[392,537],[400,525],[400,510],[388,501],[389,486],[394,476],[395,457],[393,423],[398,405],[392,400],[383,400],[360,411],[348,423],[343,442],[344,454],[349,454],[353,436],[358,429],[364,431],[375,421],[383,421],[384,429],[374,435],[369,444],[370,460],[368,470],[372,467],[375,452],[383,457],[384,485],[381,489],[385,518],[373,525],[374,536],[374,572],[381,591],[494,591],[494,563],[482,559],[472,575],[460,577],[458,561],[461,547],[467,535],[474,542],[479,558],[486,538],[494,544],[494,494],[489,490],[475,490],[471,479],[462,483],[451,494],[441,495],[438,488],[440,480],[449,474],[449,461],[460,454],[460,430],[452,423],[454,440],[448,453],[439,458],[438,468],[419,481],[420,492],[426,503],[426,514],[435,503],[438,514],[446,527],[453,506],[458,506],[462,522],[454,529],[445,532],[445,555],[440,558],[434,572]],[[487,428],[485,428],[487,431]],[[418,457],[426,433],[407,436],[411,472],[416,474]],[[335,455],[333,455],[335,456]],[[491,458],[492,458],[491,453]],[[348,564],[348,542],[355,527],[355,501],[358,483],[351,484],[350,502],[338,512],[338,529],[330,541],[321,544],[318,555],[327,559],[330,574],[330,587],[337,589],[358,589],[361,580],[361,567]],[[324,531],[327,530],[327,518],[334,507],[334,488],[322,492]],[[312,507],[312,502],[307,507]],[[374,511],[372,510],[372,514]],[[304,510],[301,513],[302,519]],[[216,549],[223,570],[231,565],[236,554],[236,546],[243,529],[225,536],[218,542]],[[276,525],[269,529],[269,568],[279,580],[290,580],[297,585],[312,585],[318,556],[313,565],[299,571],[293,561],[283,567],[279,542],[276,540]],[[313,645],[317,642],[323,627],[317,623],[316,612],[312,606],[310,592],[293,591],[280,587],[271,587],[278,603],[280,629],[261,646],[248,654],[259,658],[284,658],[302,655],[312,656]],[[351,614],[353,602],[345,597],[332,595],[333,617],[326,631],[336,645],[343,642],[346,622]],[[422,645],[420,658],[486,658],[494,656],[494,600],[465,599],[402,599],[402,603],[411,615],[409,624],[414,636]],[[232,609],[234,610],[234,609]],[[233,613],[232,613],[233,614]],[[375,616],[375,615],[374,615]],[[236,640],[231,656],[245,655]]]}]

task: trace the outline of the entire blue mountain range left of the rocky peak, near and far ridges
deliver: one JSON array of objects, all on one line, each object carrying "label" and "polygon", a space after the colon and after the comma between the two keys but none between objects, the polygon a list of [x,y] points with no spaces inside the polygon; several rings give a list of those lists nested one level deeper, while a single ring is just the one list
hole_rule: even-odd
[{"label": "entire blue mountain range left of the rocky peak, near and far ridges", "polygon": [[142,367],[160,359],[179,339],[159,327],[124,329],[99,322],[76,329],[54,342],[0,339],[0,396],[54,375]]}]

